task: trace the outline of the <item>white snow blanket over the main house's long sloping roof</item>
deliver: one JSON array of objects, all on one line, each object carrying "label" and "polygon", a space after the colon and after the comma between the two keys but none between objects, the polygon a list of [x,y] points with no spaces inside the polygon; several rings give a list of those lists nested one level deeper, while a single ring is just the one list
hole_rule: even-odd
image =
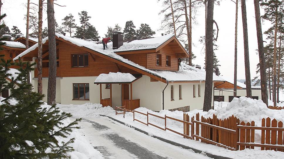
[{"label": "white snow blanket over the main house's long sloping roof", "polygon": [[[206,72],[205,70],[200,70],[198,68],[186,65],[186,64],[182,64],[180,71],[157,71],[157,70],[150,70],[147,69],[141,65],[138,65],[126,58],[123,58],[122,56],[117,55],[113,50],[113,49],[106,49],[103,50],[103,46],[102,44],[96,44],[94,42],[90,42],[84,39],[77,39],[77,38],[72,38],[72,37],[67,37],[64,36],[62,34],[57,34],[56,36],[59,38],[62,38],[66,41],[71,42],[72,44],[75,44],[77,46],[82,46],[88,49],[91,49],[93,51],[96,51],[98,53],[104,54],[108,57],[114,58],[116,60],[119,60],[123,63],[126,63],[128,65],[131,65],[135,68],[138,68],[140,70],[143,70],[147,73],[150,73],[152,75],[158,76],[166,81],[169,82],[174,82],[174,81],[204,81],[205,80],[205,76],[206,76]],[[164,35],[162,37],[156,37],[156,38],[151,38],[151,39],[145,39],[145,40],[141,40],[141,44],[146,43],[148,44],[148,46],[154,46],[154,47],[158,47],[160,44],[163,44],[164,42],[166,42],[166,39],[170,39],[171,37],[173,37],[174,35],[169,34],[169,35]],[[156,39],[156,40],[155,40]],[[46,42],[46,40],[48,40],[48,37],[45,37],[43,39],[43,44]],[[134,40],[136,41],[136,40]],[[140,40],[137,40],[136,42],[134,42],[133,44],[138,44]],[[130,42],[131,43],[131,42]],[[127,44],[123,45],[123,46],[127,46]],[[24,52],[22,52],[21,54],[19,54],[18,56],[16,56],[14,58],[14,60],[17,60],[19,57],[24,56],[25,54],[27,54],[30,51],[35,50],[38,47],[38,44],[35,44],[33,46],[31,46],[30,48],[28,48],[27,50],[25,50]],[[112,43],[108,43],[108,47],[112,48]],[[116,49],[117,50],[117,49]],[[224,81],[224,79],[222,77],[213,75],[213,80],[214,81]]]}]

